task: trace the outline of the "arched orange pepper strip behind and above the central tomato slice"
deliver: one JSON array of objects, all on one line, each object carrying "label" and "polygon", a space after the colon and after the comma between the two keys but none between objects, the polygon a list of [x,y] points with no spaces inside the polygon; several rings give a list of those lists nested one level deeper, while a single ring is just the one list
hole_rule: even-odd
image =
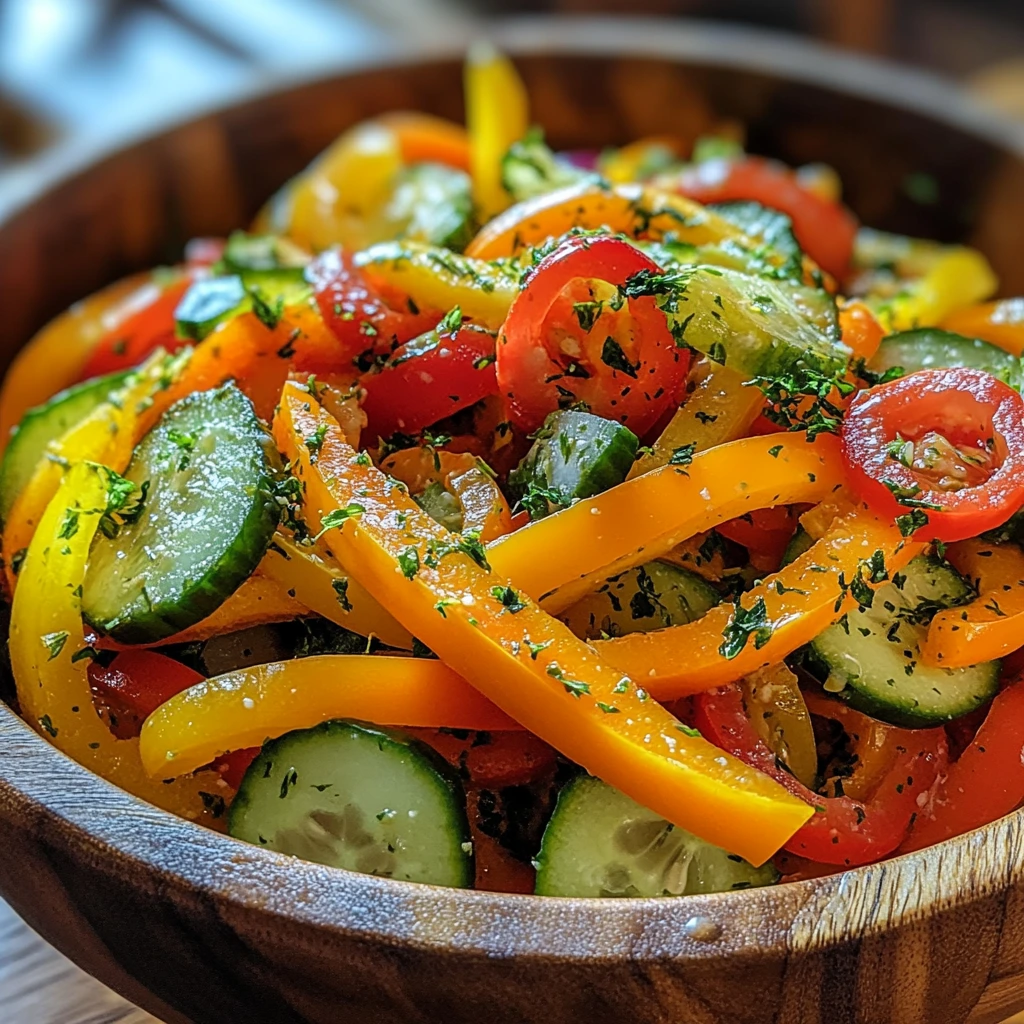
[{"label": "arched orange pepper strip behind and above the central tomato slice", "polygon": [[523,200],[495,217],[466,247],[478,260],[516,256],[573,227],[605,227],[616,234],[658,241],[672,233],[690,245],[735,240],[753,248],[739,228],[674,193],[641,184],[574,184]]}]

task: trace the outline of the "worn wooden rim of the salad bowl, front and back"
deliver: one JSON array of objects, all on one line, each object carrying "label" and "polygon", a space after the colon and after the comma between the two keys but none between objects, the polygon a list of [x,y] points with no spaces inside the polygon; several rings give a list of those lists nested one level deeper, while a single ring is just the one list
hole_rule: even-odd
[{"label": "worn wooden rim of the salad bowl, front and back", "polygon": [[[566,53],[676,59],[734,67],[882,101],[923,114],[1024,157],[1024,126],[978,105],[943,80],[778,33],[659,19],[517,18],[488,32],[513,55]],[[87,169],[181,127],[324,78],[458,59],[466,39],[369,60],[336,73],[276,79],[118,144],[68,145],[15,173],[0,230],[53,188]],[[916,853],[824,879],[676,899],[566,899],[442,889],[356,874],[285,857],[212,833],[119,790],[66,757],[0,703],[0,816],[44,834],[51,846],[164,898],[213,898],[225,915],[256,912],[323,934],[467,955],[577,962],[762,959],[821,950],[951,907],[984,900],[1024,880],[1024,811]],[[126,820],[133,822],[125,826]],[[947,865],[968,865],[950,878]],[[721,937],[700,941],[687,923],[709,919]],[[640,923],[638,926],[638,922]]]}]

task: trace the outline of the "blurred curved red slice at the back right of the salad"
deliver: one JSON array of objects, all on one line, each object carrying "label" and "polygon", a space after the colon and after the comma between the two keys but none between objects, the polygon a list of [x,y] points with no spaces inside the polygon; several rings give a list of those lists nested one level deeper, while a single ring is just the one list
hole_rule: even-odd
[{"label": "blurred curved red slice at the back right of the salad", "polygon": [[793,221],[801,248],[822,270],[842,280],[850,269],[856,218],[845,206],[805,188],[784,164],[763,157],[708,160],[688,167],[677,187],[698,203],[749,199],[780,210]]}]

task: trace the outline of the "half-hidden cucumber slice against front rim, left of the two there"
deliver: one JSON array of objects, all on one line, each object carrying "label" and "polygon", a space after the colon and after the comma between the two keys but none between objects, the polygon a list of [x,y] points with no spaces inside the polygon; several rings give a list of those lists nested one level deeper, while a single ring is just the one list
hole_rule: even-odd
[{"label": "half-hidden cucumber slice against front rim, left of the two there", "polygon": [[236,839],[303,860],[466,888],[473,847],[455,773],[392,729],[336,720],[264,744],[227,818]]}]

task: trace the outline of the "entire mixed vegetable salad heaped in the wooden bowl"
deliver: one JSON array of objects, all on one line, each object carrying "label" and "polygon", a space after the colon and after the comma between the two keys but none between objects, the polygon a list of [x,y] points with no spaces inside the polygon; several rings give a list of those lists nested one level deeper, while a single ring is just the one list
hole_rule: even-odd
[{"label": "entire mixed vegetable salad heaped in the wooden bowl", "polygon": [[1024,300],[733,125],[355,126],[0,397],[17,707],[237,839],[678,896],[1024,801]]}]

